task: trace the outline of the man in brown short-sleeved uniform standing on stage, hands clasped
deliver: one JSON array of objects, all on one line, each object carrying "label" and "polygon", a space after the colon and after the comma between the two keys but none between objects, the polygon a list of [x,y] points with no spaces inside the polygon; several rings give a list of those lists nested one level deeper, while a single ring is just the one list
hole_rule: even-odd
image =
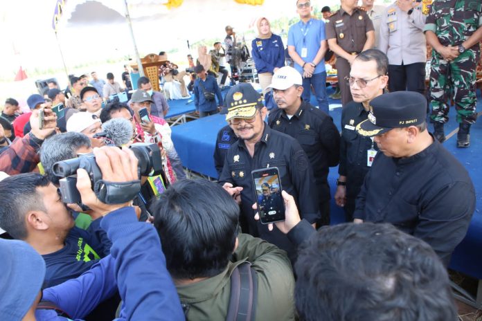
[{"label": "man in brown short-sleeved uniform standing on stage, hands clasped", "polygon": [[375,44],[373,22],[357,0],[341,0],[341,8],[330,17],[326,24],[326,39],[330,50],[337,55],[338,83],[341,89],[341,104],[352,101],[350,88],[345,77],[350,74],[350,64],[356,55]]}]

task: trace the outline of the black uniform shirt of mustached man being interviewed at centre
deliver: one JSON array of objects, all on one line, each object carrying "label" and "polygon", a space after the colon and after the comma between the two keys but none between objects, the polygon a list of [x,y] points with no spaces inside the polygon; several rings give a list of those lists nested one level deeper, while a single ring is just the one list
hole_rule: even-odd
[{"label": "black uniform shirt of mustached man being interviewed at centre", "polygon": [[274,131],[265,125],[260,142],[256,143],[253,157],[244,140],[234,143],[226,155],[220,183],[232,183],[243,187],[241,212],[249,222],[249,234],[261,237],[279,248],[286,250],[293,259],[296,247],[276,227],[269,232],[266,225],[254,220],[251,208],[256,203],[256,191],[251,171],[254,169],[278,167],[281,187],[296,200],[302,218],[314,223],[319,219],[318,201],[314,192],[314,178],[310,162],[298,142],[286,134]]}]

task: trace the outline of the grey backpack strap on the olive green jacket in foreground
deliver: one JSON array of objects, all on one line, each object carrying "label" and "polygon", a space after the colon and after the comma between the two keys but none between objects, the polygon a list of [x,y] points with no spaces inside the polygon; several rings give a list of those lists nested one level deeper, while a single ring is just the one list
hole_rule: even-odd
[{"label": "grey backpack strap on the olive green jacket in foreground", "polygon": [[226,321],[251,321],[256,314],[258,277],[249,262],[236,266],[231,273],[231,295]]}]

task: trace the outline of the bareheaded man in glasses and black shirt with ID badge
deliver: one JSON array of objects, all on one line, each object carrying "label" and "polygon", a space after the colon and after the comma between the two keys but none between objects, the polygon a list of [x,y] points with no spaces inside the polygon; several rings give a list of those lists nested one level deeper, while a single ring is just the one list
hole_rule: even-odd
[{"label": "bareheaded man in glasses and black shirt with ID badge", "polygon": [[389,80],[388,64],[382,51],[368,49],[357,55],[350,71],[348,84],[353,101],[341,113],[339,178],[334,194],[334,201],[343,207],[348,222],[353,221],[355,199],[378,152],[373,139],[359,135],[355,127],[368,118],[371,100],[383,94]]}]

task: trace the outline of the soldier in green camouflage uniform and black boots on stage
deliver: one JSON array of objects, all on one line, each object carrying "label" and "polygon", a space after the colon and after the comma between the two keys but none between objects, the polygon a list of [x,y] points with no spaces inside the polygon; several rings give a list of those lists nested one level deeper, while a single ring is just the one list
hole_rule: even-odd
[{"label": "soldier in green camouflage uniform and black boots on stage", "polygon": [[454,93],[459,123],[457,147],[469,147],[476,114],[476,66],[482,39],[481,0],[435,0],[425,24],[427,44],[434,50],[430,71],[431,122],[434,136],[445,140],[447,99]]}]

